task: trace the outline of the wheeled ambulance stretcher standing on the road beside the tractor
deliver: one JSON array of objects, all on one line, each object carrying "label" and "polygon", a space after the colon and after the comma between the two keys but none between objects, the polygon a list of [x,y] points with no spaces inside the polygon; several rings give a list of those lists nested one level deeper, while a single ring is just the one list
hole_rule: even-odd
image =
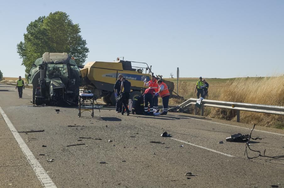
[{"label": "wheeled ambulance stretcher standing on the road beside the tractor", "polygon": [[93,93],[80,93],[79,94],[78,117],[80,118],[81,113],[85,111],[89,111],[91,113],[92,118],[94,118],[94,94]]}]

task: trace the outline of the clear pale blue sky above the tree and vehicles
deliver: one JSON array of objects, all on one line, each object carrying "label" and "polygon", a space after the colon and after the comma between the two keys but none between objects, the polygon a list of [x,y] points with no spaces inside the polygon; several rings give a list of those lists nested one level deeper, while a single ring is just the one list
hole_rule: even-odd
[{"label": "clear pale blue sky above the tree and vehicles", "polygon": [[155,75],[232,78],[284,75],[283,0],[1,1],[0,70],[25,75],[16,46],[31,21],[66,12],[90,52],[86,62],[152,65]]}]

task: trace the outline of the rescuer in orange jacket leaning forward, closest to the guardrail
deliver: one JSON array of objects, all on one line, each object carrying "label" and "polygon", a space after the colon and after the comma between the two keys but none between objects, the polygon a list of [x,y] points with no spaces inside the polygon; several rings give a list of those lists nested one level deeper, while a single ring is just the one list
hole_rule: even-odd
[{"label": "rescuer in orange jacket leaning forward, closest to the guardrail", "polygon": [[167,115],[169,99],[170,99],[170,92],[169,92],[169,89],[166,83],[164,83],[161,80],[158,80],[157,83],[159,85],[159,91],[155,95],[156,96],[160,95],[160,97],[162,98],[163,112],[161,113],[161,115]]}]

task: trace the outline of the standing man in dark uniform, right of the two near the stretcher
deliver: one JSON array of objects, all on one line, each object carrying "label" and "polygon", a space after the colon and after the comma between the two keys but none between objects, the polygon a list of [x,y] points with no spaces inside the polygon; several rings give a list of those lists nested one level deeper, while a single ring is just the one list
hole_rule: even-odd
[{"label": "standing man in dark uniform, right of the two near the stretcher", "polygon": [[131,90],[130,81],[126,80],[125,78],[122,78],[121,79],[120,92],[119,92],[119,93],[122,93],[122,99],[121,99],[122,104],[123,104],[123,108],[122,108],[122,112],[121,112],[122,115],[124,114],[124,109],[126,110],[128,116],[130,114],[130,111],[127,107],[128,103],[129,103],[128,100],[129,100],[129,96],[130,96],[130,90]]}]

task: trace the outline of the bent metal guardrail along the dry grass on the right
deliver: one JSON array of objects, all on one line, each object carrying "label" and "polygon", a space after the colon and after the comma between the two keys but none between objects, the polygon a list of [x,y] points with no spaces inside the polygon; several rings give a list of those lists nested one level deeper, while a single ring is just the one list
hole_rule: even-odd
[{"label": "bent metal guardrail along the dry grass on the right", "polygon": [[[182,110],[189,107],[190,105],[195,105],[197,99],[190,98],[187,101],[177,106],[177,110]],[[237,113],[237,122],[240,122],[240,111],[248,112],[259,112],[259,113],[269,113],[284,115],[283,106],[273,106],[273,105],[264,105],[264,104],[249,104],[241,102],[227,102],[227,101],[214,101],[203,99],[201,102],[201,116],[204,116],[204,107],[216,107],[216,108],[225,108],[235,110]],[[194,114],[198,115],[198,107],[195,106]]]}]

